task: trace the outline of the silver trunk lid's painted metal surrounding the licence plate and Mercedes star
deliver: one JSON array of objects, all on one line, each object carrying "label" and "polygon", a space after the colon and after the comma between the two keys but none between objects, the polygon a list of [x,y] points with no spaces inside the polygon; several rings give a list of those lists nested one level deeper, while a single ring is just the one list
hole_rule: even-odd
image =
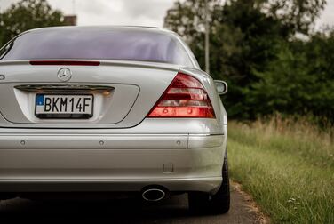
[{"label": "silver trunk lid's painted metal surrounding the licence plate and Mercedes star", "polygon": [[[103,62],[97,67],[67,66],[66,68],[72,71],[72,78],[63,83],[58,79],[57,73],[64,66],[32,66],[26,61],[15,66],[4,66],[0,63],[0,68],[6,76],[5,80],[0,81],[0,112],[12,123],[12,127],[50,128],[76,125],[88,128],[102,125],[106,127],[106,124],[109,124],[108,127],[133,126],[147,116],[156,100],[178,73],[175,68],[158,68],[157,65],[145,67],[135,64],[129,66],[129,63],[123,65],[119,62]],[[108,86],[114,90],[107,95],[92,92],[94,116],[89,120],[45,120],[35,116],[35,95],[41,91],[27,92],[16,88],[28,84]]]}]

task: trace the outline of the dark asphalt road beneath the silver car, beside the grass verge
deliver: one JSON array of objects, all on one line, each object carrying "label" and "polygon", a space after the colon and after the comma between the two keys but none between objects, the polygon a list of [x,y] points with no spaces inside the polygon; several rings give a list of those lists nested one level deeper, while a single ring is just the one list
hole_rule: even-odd
[{"label": "dark asphalt road beneath the silver car, beside the grass verge", "polygon": [[171,196],[159,203],[139,203],[131,198],[107,202],[41,203],[20,198],[0,202],[0,223],[258,223],[258,214],[237,191],[231,209],[223,215],[197,216],[187,210],[187,195]]}]

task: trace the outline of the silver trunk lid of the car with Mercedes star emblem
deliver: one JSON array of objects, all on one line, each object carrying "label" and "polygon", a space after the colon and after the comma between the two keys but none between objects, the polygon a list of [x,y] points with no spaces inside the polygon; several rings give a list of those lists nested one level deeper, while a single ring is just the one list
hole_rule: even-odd
[{"label": "silver trunk lid of the car with Mercedes star emblem", "polygon": [[[91,64],[84,64],[87,61],[68,61],[72,63],[38,64],[28,60],[0,62],[0,74],[4,75],[4,79],[0,80],[0,113],[6,120],[0,125],[41,128],[131,127],[147,116],[179,70],[178,66],[167,63],[91,60]],[[68,81],[61,79],[61,69],[68,69],[71,75]],[[36,116],[36,96],[52,94],[91,95],[91,116],[80,119]]]}]

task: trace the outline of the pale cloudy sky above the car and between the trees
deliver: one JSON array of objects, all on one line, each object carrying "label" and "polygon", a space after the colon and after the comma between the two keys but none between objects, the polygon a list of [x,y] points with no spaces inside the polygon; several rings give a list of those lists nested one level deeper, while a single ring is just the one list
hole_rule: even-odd
[{"label": "pale cloudy sky above the car and between the trees", "polygon": [[[18,0],[0,0],[4,11]],[[89,25],[136,25],[163,27],[163,18],[175,0],[47,0],[53,8],[65,14],[75,13],[79,26]],[[316,29],[326,25],[334,27],[334,0],[316,21]]]}]

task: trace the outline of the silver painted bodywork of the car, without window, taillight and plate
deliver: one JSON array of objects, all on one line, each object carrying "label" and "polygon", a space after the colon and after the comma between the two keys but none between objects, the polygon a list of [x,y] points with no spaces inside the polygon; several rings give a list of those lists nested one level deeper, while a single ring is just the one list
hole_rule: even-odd
[{"label": "silver painted bodywork of the car, without window, taillight and plate", "polygon": [[[0,192],[140,191],[150,185],[217,192],[227,113],[214,81],[179,36],[149,32],[175,36],[193,66],[133,60],[36,66],[0,60],[5,76],[0,80]],[[61,68],[72,71],[68,82],[58,78]],[[203,84],[214,118],[147,117],[178,73]],[[111,92],[93,92],[97,108],[90,119],[50,120],[35,116],[38,91],[27,91],[28,85],[104,86]]]}]

